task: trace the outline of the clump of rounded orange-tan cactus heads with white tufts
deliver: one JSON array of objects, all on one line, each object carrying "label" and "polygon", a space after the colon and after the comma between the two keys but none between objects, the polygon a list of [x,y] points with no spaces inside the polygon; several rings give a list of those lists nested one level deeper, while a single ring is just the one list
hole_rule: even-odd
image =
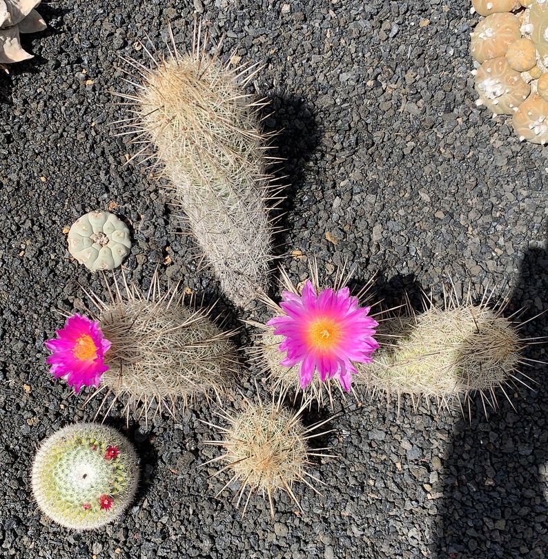
[{"label": "clump of rounded orange-tan cactus heads with white tufts", "polygon": [[476,104],[512,115],[520,140],[548,142],[548,0],[473,0]]}]

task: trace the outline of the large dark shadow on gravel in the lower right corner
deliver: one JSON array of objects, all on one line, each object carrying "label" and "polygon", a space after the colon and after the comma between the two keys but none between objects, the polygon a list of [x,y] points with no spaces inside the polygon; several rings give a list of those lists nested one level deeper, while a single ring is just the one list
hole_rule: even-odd
[{"label": "large dark shadow on gravel in the lower right corner", "polygon": [[[526,252],[505,312],[524,309],[522,338],[548,336],[548,313],[538,315],[547,309],[547,243],[548,235],[544,247]],[[488,409],[489,417],[476,397],[471,419],[453,428],[432,558],[548,557],[547,355],[545,343],[523,351],[521,370],[529,377],[523,380],[534,390],[507,388],[512,404],[498,392],[498,410]]]}]

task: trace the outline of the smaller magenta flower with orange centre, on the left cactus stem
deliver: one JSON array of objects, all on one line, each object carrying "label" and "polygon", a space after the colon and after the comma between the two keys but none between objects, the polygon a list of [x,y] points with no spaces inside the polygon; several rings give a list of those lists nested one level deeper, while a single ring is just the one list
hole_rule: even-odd
[{"label": "smaller magenta flower with orange centre, on the left cactus stem", "polygon": [[82,386],[99,386],[101,375],[108,370],[104,354],[110,341],[103,337],[99,323],[85,316],[69,316],[64,328],[56,330],[57,339],[46,341],[52,354],[46,359],[51,374],[66,379],[78,393]]}]

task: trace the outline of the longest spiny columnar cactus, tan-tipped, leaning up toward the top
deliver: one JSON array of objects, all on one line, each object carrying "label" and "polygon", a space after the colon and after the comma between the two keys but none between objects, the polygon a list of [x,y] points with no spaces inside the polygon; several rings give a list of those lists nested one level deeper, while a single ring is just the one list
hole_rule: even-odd
[{"label": "longest spiny columnar cactus, tan-tipped, leaning up toward the top", "polygon": [[126,122],[146,144],[136,155],[157,160],[223,292],[245,306],[266,291],[273,258],[266,202],[273,207],[280,188],[266,173],[273,158],[257,114],[264,102],[244,93],[256,67],[221,64],[200,34],[191,53],[174,44],[175,54],[153,59],[150,69],[130,61],[143,82],[125,96],[136,105]]}]

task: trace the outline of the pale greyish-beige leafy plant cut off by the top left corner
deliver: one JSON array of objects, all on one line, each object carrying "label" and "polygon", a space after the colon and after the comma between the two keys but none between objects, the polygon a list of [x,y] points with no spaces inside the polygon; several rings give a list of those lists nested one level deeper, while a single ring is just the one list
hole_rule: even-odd
[{"label": "pale greyish-beige leafy plant cut off by the top left corner", "polygon": [[21,33],[46,29],[46,22],[35,10],[41,0],[0,0],[0,68],[32,58],[21,46]]}]

